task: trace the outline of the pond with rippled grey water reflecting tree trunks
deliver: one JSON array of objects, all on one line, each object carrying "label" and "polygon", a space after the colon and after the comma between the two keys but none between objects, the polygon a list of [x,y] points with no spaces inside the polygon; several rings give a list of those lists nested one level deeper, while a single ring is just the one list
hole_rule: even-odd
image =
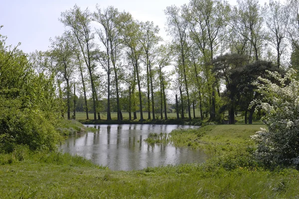
[{"label": "pond with rippled grey water reflecting tree trunks", "polygon": [[177,148],[171,144],[151,145],[144,141],[149,133],[170,133],[176,128],[198,128],[183,125],[113,124],[86,125],[97,131],[70,136],[61,145],[64,153],[80,155],[111,170],[140,170],[147,167],[201,163],[201,150]]}]

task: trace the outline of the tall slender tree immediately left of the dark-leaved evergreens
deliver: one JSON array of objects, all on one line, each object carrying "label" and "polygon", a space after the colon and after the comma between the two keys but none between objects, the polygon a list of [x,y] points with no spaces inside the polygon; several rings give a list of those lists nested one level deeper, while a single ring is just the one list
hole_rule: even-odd
[{"label": "tall slender tree immediately left of the dark-leaved evergreens", "polygon": [[[190,12],[187,14],[190,23],[190,37],[203,56],[205,75],[210,74],[211,62],[217,48],[227,33],[230,7],[221,0],[191,0]],[[194,64],[194,63],[193,63]],[[215,88],[217,80],[207,78],[210,93],[210,120],[216,116]]]}]

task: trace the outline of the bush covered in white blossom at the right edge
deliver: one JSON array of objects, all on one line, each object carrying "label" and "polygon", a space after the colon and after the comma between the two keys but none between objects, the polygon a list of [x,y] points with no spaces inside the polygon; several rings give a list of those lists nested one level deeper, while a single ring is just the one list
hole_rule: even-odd
[{"label": "bush covered in white blossom at the right edge", "polygon": [[284,77],[278,72],[267,72],[274,81],[259,78],[254,84],[263,100],[251,102],[265,111],[263,121],[268,127],[251,136],[258,144],[255,155],[267,166],[299,168],[299,81],[293,69]]}]

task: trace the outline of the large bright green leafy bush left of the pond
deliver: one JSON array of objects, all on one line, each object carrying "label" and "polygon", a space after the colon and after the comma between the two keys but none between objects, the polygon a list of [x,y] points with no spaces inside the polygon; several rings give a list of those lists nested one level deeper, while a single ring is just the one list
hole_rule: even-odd
[{"label": "large bright green leafy bush left of the pond", "polygon": [[56,149],[61,136],[53,78],[35,74],[17,48],[0,48],[0,66],[0,153],[15,145]]}]

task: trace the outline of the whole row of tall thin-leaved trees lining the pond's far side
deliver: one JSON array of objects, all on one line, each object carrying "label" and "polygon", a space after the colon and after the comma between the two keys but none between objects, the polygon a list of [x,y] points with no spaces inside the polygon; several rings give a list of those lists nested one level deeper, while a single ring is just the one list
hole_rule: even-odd
[{"label": "whole row of tall thin-leaved trees lining the pond's far side", "polygon": [[[113,6],[97,6],[90,12],[75,5],[61,13],[65,32],[51,39],[48,51],[30,57],[36,71],[56,77],[68,119],[76,91],[84,96],[87,119],[89,97],[93,119],[101,119],[103,99],[108,120],[112,101],[118,120],[123,119],[122,111],[129,112],[129,119],[136,119],[139,111],[144,120],[144,110],[148,119],[155,119],[157,101],[160,118],[167,119],[167,103],[174,101],[167,91],[172,90],[178,94],[177,117],[188,113],[191,119],[193,106],[199,108],[201,119],[208,115],[210,120],[221,119],[229,110],[229,121],[234,123],[238,110],[245,112],[246,122],[249,112],[251,123],[254,107],[249,104],[261,98],[252,82],[265,70],[284,73],[289,47],[296,67],[298,12],[298,0],[286,4],[270,0],[264,6],[257,0],[239,0],[236,6],[223,0],[190,0],[165,9],[169,44],[163,43],[153,22],[138,21]],[[167,66],[173,70],[167,71]]]}]

